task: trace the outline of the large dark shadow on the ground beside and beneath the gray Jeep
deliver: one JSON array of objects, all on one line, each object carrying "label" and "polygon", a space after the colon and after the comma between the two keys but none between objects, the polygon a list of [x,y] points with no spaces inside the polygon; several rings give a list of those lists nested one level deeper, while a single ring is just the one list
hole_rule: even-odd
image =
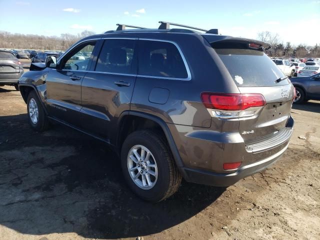
[{"label": "large dark shadow on the ground beside and beneath the gray Jeep", "polygon": [[194,216],[225,190],[183,181],[173,196],[148,203],[128,189],[118,156],[98,140],[59,125],[32,131],[26,114],[0,116],[0,132],[0,225],[24,234],[153,234]]}]

